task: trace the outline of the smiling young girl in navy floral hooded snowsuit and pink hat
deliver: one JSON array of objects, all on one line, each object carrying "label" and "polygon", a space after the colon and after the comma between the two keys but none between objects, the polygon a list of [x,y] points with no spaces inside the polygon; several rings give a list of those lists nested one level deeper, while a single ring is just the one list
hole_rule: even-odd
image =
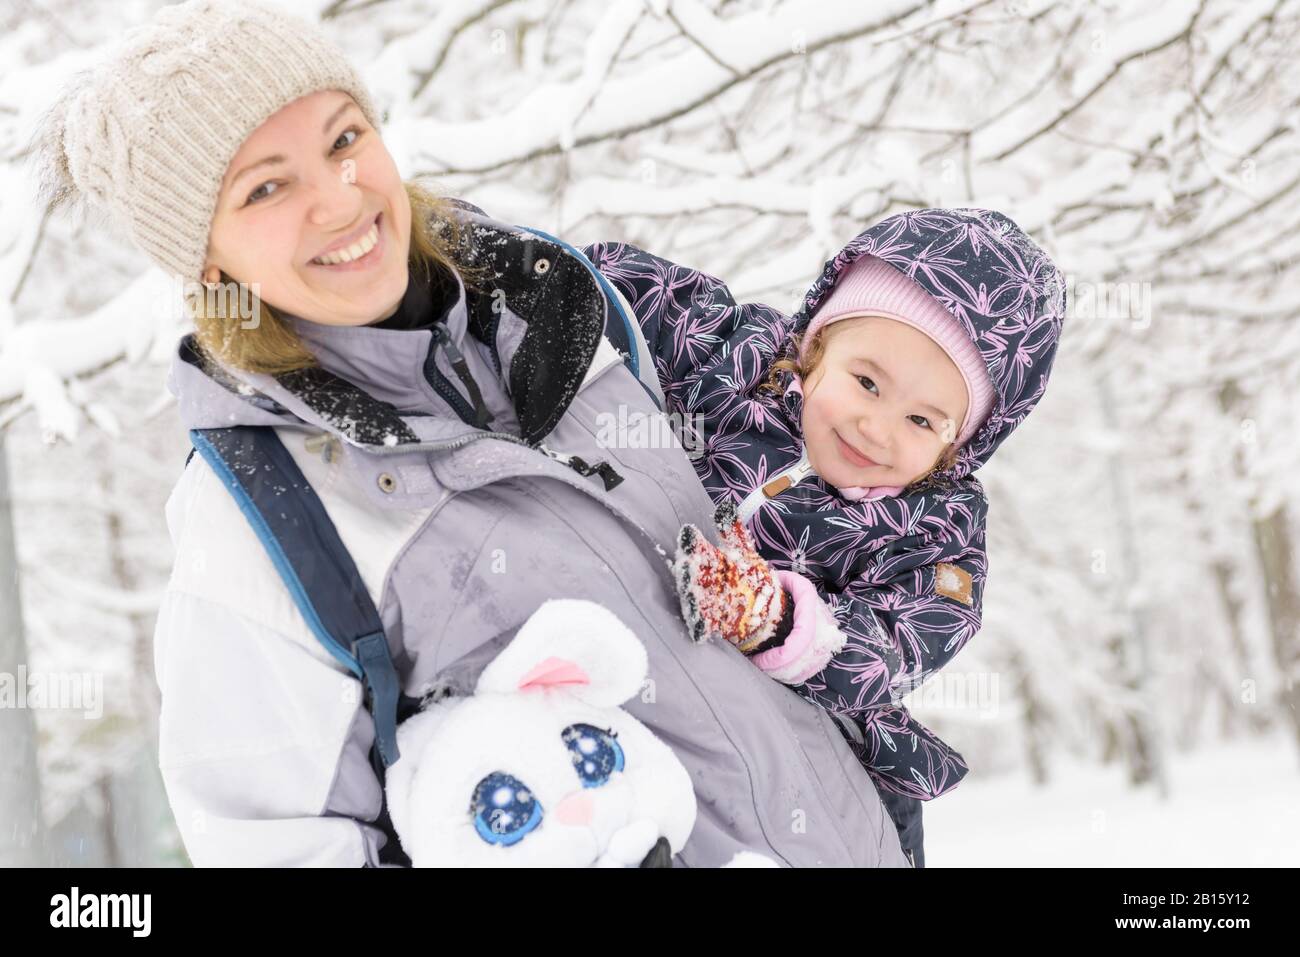
[{"label": "smiling young girl in navy floral hooded snowsuit and pink hat", "polygon": [[702,433],[722,546],[682,529],[692,635],[833,714],[923,866],[919,802],[967,767],[901,698],[979,629],[988,502],[971,473],[1043,395],[1061,273],[984,209],[885,218],[792,319],[633,246],[585,252],[632,304],[667,411]]}]

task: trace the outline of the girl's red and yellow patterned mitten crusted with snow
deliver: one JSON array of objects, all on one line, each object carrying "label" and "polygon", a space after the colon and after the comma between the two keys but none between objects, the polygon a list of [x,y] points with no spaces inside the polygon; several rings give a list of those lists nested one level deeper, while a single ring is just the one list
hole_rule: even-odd
[{"label": "girl's red and yellow patterned mitten crusted with snow", "polygon": [[722,637],[745,654],[780,645],[793,623],[777,573],[754,549],[732,503],[714,515],[722,546],[694,525],[681,527],[672,562],[681,614],[693,641]]}]

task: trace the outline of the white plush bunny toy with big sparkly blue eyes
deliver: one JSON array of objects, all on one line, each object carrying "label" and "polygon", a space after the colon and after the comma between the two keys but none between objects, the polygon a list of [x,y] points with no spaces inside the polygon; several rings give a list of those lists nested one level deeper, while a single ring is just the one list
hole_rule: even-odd
[{"label": "white plush bunny toy with big sparkly blue eyes", "polygon": [[[646,651],[594,602],[545,602],[473,696],[398,728],[389,814],[416,867],[670,866],[696,822],[676,755],[619,705]],[[733,865],[774,866],[757,854]]]}]

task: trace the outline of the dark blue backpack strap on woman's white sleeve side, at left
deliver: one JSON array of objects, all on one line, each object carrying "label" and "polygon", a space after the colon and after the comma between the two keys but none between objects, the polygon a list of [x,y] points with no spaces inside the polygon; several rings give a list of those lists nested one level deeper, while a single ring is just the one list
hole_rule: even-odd
[{"label": "dark blue backpack strap on woman's white sleeve side, at left", "polygon": [[380,612],[316,489],[269,425],[190,429],[190,441],[234,495],[312,633],[361,680],[382,783],[400,757],[399,706],[410,711],[413,700],[402,694]]}]

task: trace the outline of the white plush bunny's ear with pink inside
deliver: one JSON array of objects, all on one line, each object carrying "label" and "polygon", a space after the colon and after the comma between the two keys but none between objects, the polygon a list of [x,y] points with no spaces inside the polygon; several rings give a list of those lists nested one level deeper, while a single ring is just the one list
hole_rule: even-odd
[{"label": "white plush bunny's ear with pink inside", "polygon": [[608,609],[578,598],[543,602],[484,668],[477,693],[563,689],[594,707],[615,707],[641,689],[646,650]]}]

